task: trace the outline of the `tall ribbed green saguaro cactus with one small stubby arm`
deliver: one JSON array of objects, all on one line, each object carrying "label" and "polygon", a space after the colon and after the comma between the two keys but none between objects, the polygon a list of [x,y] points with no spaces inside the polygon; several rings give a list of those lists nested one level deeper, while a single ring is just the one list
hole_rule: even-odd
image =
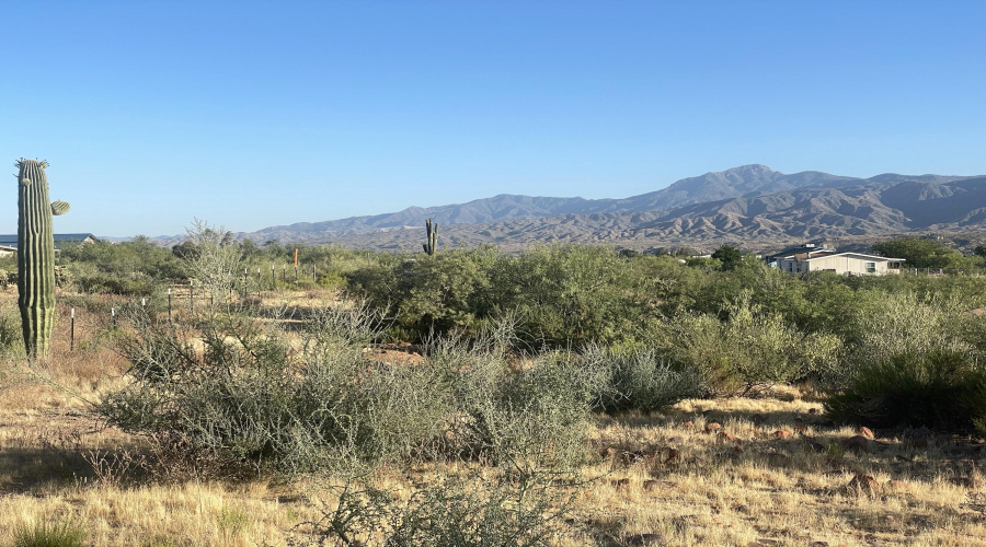
[{"label": "tall ribbed green saguaro cactus with one small stubby arm", "polygon": [[55,236],[51,216],[69,210],[48,201],[48,162],[21,159],[18,173],[18,305],[24,348],[31,358],[48,354],[55,326]]}]

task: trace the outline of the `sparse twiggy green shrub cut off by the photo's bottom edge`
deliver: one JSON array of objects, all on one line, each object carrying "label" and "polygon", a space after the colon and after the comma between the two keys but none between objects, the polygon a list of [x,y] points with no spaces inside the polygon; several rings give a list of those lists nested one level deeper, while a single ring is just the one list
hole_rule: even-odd
[{"label": "sparse twiggy green shrub cut off by the photo's bottom edge", "polygon": [[331,485],[332,502],[309,496],[321,517],[296,529],[319,545],[356,545],[374,533],[394,547],[549,546],[571,529],[581,486],[573,473],[469,470],[472,480],[437,473],[417,480],[408,498],[360,480]]}]

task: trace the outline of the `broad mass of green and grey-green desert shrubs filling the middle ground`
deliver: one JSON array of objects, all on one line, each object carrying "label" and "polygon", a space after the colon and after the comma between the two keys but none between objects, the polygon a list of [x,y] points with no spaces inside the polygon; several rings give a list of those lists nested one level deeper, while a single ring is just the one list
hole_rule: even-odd
[{"label": "broad mass of green and grey-green desert shrubs filling the middle ground", "polygon": [[[548,545],[592,457],[588,424],[695,397],[796,384],[840,422],[986,434],[982,276],[794,276],[734,248],[394,255],[191,235],[59,255],[73,305],[119,317],[101,336],[129,370],[95,409],[147,441],[159,476],[341,477],[303,525],[326,542]],[[264,298],[316,288],[343,300]],[[3,314],[0,345],[19,344]],[[416,351],[374,357],[395,344]],[[397,499],[369,479],[450,463],[485,486],[433,480]]]}]

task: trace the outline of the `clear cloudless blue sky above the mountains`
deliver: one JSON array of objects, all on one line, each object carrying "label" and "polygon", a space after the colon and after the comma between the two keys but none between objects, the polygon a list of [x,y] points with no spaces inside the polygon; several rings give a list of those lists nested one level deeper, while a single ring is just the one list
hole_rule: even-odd
[{"label": "clear cloudless blue sky above the mountains", "polygon": [[50,162],[56,232],[986,174],[982,1],[0,3],[0,159]]}]

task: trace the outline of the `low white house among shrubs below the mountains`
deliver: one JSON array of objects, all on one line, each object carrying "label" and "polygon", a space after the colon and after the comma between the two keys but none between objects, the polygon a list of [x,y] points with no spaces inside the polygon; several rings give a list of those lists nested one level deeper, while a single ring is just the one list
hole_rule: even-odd
[{"label": "low white house among shrubs below the mountains", "polygon": [[835,271],[849,276],[884,276],[899,274],[904,259],[863,253],[839,253],[824,246],[807,244],[772,255],[769,263],[788,274]]}]

